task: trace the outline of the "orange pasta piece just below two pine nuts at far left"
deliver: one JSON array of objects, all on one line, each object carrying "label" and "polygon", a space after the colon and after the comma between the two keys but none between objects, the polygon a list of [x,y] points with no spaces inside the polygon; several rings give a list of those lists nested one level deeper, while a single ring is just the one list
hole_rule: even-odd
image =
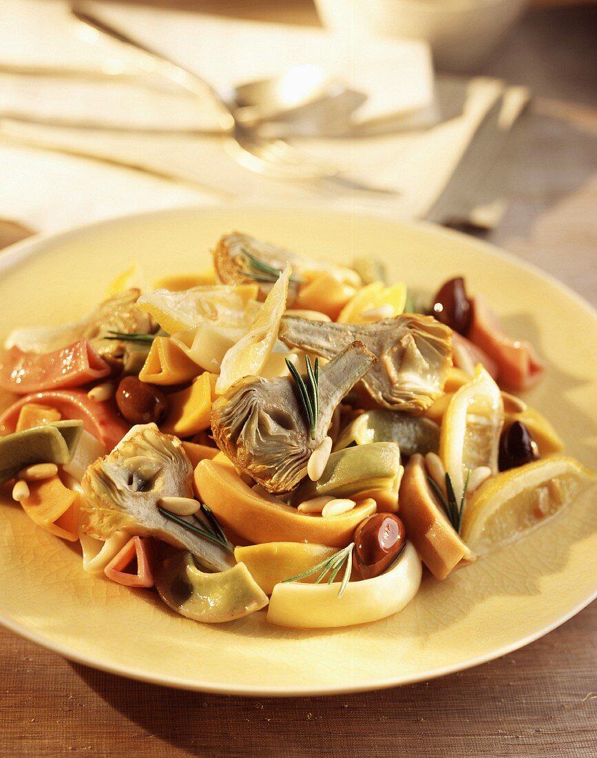
[{"label": "orange pasta piece just below two pine nuts at far left", "polygon": [[58,476],[28,484],[29,497],[20,501],[23,511],[50,534],[76,542],[79,539],[79,493],[64,487]]}]

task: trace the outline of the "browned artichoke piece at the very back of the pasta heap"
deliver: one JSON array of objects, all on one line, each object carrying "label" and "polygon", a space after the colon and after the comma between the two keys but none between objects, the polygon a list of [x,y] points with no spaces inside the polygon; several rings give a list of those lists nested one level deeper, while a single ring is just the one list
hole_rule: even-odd
[{"label": "browned artichoke piece at the very back of the pasta heap", "polygon": [[326,271],[352,287],[361,286],[361,277],[351,268],[329,261],[306,258],[240,232],[225,234],[214,250],[214,267],[218,280],[223,284],[257,282],[261,300],[265,299],[276,283],[280,271],[288,264],[292,266],[293,273],[289,286],[291,301],[296,294],[299,280],[307,271]]}]

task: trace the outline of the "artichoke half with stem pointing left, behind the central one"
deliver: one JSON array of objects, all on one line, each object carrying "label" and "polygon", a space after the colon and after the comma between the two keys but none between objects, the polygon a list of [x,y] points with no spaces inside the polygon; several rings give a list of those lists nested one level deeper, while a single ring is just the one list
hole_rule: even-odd
[{"label": "artichoke half with stem pointing left, behind the central one", "polygon": [[420,412],[442,394],[452,365],[452,330],[431,316],[384,318],[372,324],[334,324],[284,316],[280,340],[324,358],[333,358],[354,340],[379,361],[363,384],[380,406]]}]

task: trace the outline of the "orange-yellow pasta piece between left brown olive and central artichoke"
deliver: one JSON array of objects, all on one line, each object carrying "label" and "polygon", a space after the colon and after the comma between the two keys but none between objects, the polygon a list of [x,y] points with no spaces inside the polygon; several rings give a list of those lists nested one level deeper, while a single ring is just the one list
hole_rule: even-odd
[{"label": "orange-yellow pasta piece between left brown olive and central artichoke", "polygon": [[216,399],[214,374],[205,371],[190,387],[168,397],[170,410],[161,431],[190,437],[211,424],[211,402]]}]

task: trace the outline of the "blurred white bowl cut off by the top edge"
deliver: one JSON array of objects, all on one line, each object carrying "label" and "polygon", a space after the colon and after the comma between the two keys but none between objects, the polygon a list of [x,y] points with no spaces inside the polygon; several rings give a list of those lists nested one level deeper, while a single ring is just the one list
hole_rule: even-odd
[{"label": "blurred white bowl cut off by the top edge", "polygon": [[424,39],[439,69],[470,71],[512,27],[527,0],[315,0],[315,5],[330,29]]}]

